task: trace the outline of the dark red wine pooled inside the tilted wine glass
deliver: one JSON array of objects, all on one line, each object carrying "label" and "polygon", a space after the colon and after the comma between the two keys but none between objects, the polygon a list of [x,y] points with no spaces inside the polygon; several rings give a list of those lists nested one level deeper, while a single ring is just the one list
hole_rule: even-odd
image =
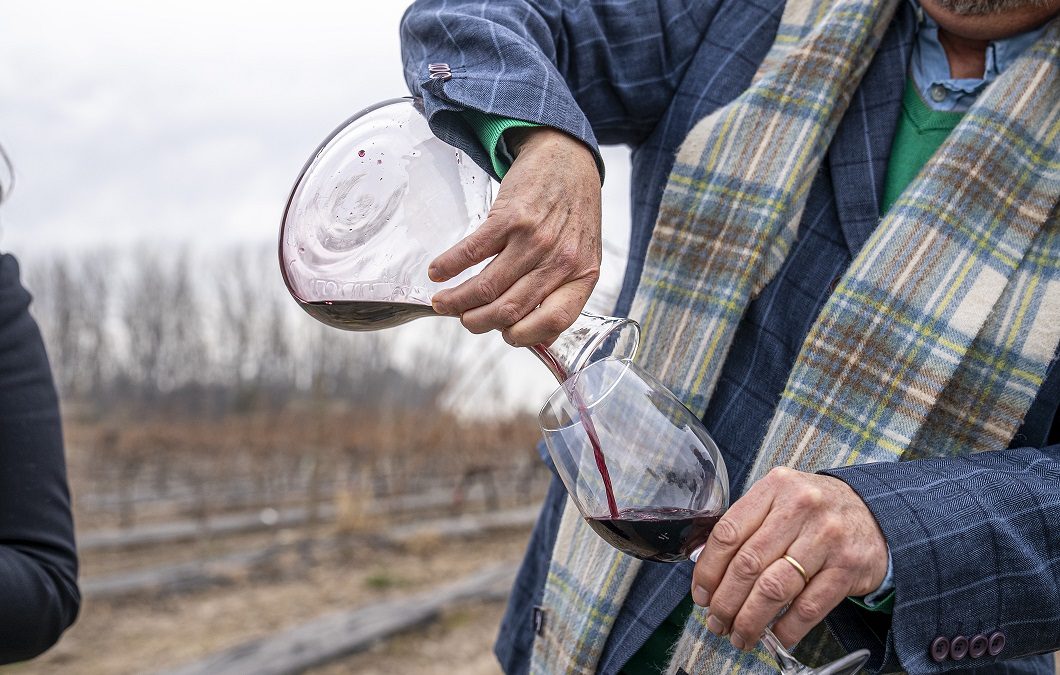
[{"label": "dark red wine pooled inside the tilted wine glass", "polygon": [[655,563],[689,559],[721,514],[689,509],[622,509],[617,518],[585,518],[589,527],[619,551]]}]

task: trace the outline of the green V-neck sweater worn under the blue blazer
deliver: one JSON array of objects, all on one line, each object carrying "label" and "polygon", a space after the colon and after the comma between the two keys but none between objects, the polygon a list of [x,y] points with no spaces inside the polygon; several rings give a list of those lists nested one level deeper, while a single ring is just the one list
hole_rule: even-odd
[{"label": "green V-neck sweater worn under the blue blazer", "polygon": [[[883,202],[880,206],[881,215],[890,210],[950,131],[957,126],[961,117],[964,117],[961,112],[932,110],[920,97],[913,78],[908,79],[902,97],[902,113],[890,146],[890,160],[887,163],[887,176],[883,185]],[[507,155],[502,143],[505,131],[514,127],[537,126],[530,122],[508,120],[477,111],[465,111],[464,119],[475,129],[482,146],[489,150],[493,166],[501,177],[511,165],[511,158]],[[850,600],[866,609],[889,612],[894,606],[895,596],[891,593],[872,608],[859,602],[858,599]],[[681,637],[685,621],[691,611],[692,597],[686,596],[655,633],[648,637],[648,641],[630,658],[622,673],[656,675],[664,672],[669,663],[670,651]]]}]

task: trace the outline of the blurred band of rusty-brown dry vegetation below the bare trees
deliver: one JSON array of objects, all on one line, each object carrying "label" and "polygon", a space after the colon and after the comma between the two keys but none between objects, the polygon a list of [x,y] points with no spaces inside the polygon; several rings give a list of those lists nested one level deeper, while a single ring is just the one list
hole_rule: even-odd
[{"label": "blurred band of rusty-brown dry vegetation below the bare trees", "polygon": [[527,415],[473,423],[442,411],[379,418],[325,407],[220,420],[70,419],[66,433],[83,531],[542,468],[540,431]]}]

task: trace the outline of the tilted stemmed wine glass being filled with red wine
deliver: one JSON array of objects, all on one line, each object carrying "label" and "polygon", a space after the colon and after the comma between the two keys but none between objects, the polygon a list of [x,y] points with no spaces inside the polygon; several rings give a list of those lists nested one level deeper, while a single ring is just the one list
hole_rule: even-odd
[{"label": "tilted stemmed wine glass being filled with red wine", "polygon": [[[586,366],[538,413],[549,455],[585,521],[644,561],[695,561],[728,508],[725,462],[700,419],[629,359]],[[783,675],[852,675],[859,650],[801,664],[768,629],[762,643]]]}]

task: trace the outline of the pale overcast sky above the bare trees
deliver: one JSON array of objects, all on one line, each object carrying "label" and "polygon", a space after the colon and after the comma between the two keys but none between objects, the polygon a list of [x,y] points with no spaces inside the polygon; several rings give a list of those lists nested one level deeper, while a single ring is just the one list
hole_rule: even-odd
[{"label": "pale overcast sky above the bare trees", "polygon": [[[353,112],[407,93],[407,2],[17,0],[0,23],[0,247],[271,242],[292,182]],[[605,154],[624,248],[628,160]],[[621,263],[605,261],[602,291]],[[534,392],[531,394],[536,396]]]}]

